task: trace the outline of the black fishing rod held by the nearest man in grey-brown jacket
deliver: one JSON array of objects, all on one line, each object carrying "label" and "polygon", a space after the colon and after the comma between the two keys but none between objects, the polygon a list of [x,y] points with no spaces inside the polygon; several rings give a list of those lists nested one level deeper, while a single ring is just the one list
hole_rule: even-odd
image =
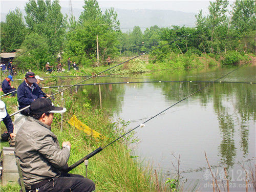
[{"label": "black fishing rod held by the nearest man in grey-brown jacket", "polygon": [[168,109],[172,108],[172,107],[175,106],[176,104],[178,104],[178,103],[184,101],[184,100],[187,99],[188,97],[190,97],[190,96],[192,96],[192,95],[194,95],[194,94],[200,92],[201,90],[203,90],[203,89],[209,87],[209,86],[210,86],[211,84],[213,84],[215,81],[218,81],[219,79],[221,79],[221,78],[223,78],[223,77],[229,75],[230,73],[232,73],[232,72],[234,72],[234,71],[236,71],[236,70],[242,68],[242,67],[245,66],[245,65],[246,65],[246,63],[245,63],[244,65],[238,67],[237,69],[234,69],[234,70],[228,72],[227,74],[225,74],[225,75],[223,75],[223,76],[217,78],[216,80],[211,81],[211,82],[208,83],[206,86],[204,86],[204,87],[202,87],[201,89],[199,89],[199,90],[197,90],[197,91],[195,91],[195,92],[189,94],[188,96],[184,97],[183,99],[179,100],[178,102],[176,102],[176,103],[174,103],[173,105],[169,106],[168,108],[164,109],[164,110],[161,111],[160,113],[154,115],[154,116],[151,117],[150,119],[147,119],[146,121],[144,121],[144,122],[141,123],[140,125],[134,127],[132,130],[126,132],[126,133],[123,134],[123,135],[121,135],[120,137],[118,137],[118,138],[115,139],[114,141],[110,142],[109,144],[105,145],[104,147],[101,147],[101,146],[100,146],[99,148],[97,148],[96,150],[94,150],[92,153],[90,153],[90,154],[88,154],[87,156],[83,157],[82,159],[80,159],[79,161],[75,162],[74,164],[70,165],[65,171],[66,171],[66,172],[70,172],[70,170],[74,169],[75,167],[77,167],[78,165],[80,165],[81,163],[83,163],[84,160],[90,159],[91,157],[93,157],[93,156],[96,155],[97,153],[101,152],[104,148],[106,148],[106,147],[108,147],[109,145],[113,144],[114,142],[116,142],[117,140],[121,139],[121,138],[124,137],[125,135],[131,133],[132,131],[134,131],[134,130],[137,129],[138,127],[144,127],[146,122],[152,120],[153,118],[157,117],[158,115],[160,115],[160,114],[162,114],[163,112],[167,111]]}]

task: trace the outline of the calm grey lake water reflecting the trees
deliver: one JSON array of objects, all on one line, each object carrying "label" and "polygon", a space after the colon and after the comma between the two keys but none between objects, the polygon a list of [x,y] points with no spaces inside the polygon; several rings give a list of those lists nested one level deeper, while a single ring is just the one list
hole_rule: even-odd
[{"label": "calm grey lake water reflecting the trees", "polygon": [[[91,82],[212,81],[236,68],[189,71],[159,71],[130,75],[137,78],[98,77]],[[127,76],[126,76],[127,77]],[[256,82],[256,66],[244,66],[219,81]],[[101,85],[102,107],[113,111],[113,119],[129,121],[132,129],[189,94],[204,82],[158,82]],[[99,87],[86,89],[99,108]],[[231,191],[245,191],[245,172],[255,168],[255,84],[214,83],[136,129],[136,155],[152,164],[164,180],[172,178],[180,156],[183,190],[212,191],[212,171],[224,178],[227,168]],[[176,167],[176,168],[175,168]],[[219,185],[223,185],[221,181]],[[224,180],[225,181],[225,180]],[[226,182],[225,182],[226,183]],[[224,183],[224,185],[225,185]],[[252,187],[252,186],[251,186]],[[249,191],[251,191],[249,185]]]}]

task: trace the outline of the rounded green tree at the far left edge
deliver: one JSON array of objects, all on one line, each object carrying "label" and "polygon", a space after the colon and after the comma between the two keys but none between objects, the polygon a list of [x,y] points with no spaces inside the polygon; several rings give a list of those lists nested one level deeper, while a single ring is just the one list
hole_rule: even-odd
[{"label": "rounded green tree at the far left edge", "polygon": [[1,49],[4,52],[12,52],[20,49],[20,45],[26,36],[26,26],[22,12],[19,9],[10,11],[6,15],[6,22],[1,22]]}]

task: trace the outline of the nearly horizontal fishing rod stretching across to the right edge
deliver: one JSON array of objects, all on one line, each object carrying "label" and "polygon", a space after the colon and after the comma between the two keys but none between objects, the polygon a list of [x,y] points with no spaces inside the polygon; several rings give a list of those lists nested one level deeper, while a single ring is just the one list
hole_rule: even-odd
[{"label": "nearly horizontal fishing rod stretching across to the right edge", "polygon": [[[246,84],[256,84],[255,82],[233,82],[233,81],[127,81],[127,82],[101,82],[101,83],[88,83],[88,84],[78,84],[77,86],[95,86],[99,84],[129,84],[129,83],[162,83],[162,82],[218,82],[218,83],[246,83]],[[51,87],[42,87],[41,89],[49,89],[49,88],[61,88],[61,87],[69,87],[71,85],[65,86],[51,86]]]}]

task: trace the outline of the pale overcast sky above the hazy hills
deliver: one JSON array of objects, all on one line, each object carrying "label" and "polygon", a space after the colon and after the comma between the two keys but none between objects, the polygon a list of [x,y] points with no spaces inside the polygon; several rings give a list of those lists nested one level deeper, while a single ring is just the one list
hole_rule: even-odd
[{"label": "pale overcast sky above the hazy hills", "polygon": [[[28,0],[1,0],[1,12],[9,12],[16,7],[24,9]],[[69,0],[60,0],[61,7],[69,7]],[[83,0],[71,0],[73,8],[82,8]],[[198,13],[202,9],[203,14],[208,14],[209,1],[186,0],[186,1],[170,1],[170,0],[99,0],[99,6],[102,8],[121,8],[121,9],[158,9],[158,10],[175,10],[183,12]],[[231,4],[233,1],[230,1]]]}]

